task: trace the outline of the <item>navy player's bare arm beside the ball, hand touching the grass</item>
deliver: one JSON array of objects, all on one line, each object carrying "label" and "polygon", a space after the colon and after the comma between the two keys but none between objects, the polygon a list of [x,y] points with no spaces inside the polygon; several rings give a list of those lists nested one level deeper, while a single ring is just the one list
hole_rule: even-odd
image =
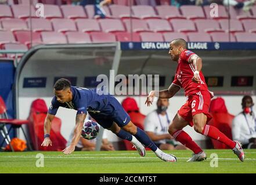
[{"label": "navy player's bare arm beside the ball, hand touching the grass", "polygon": [[77,114],[75,117],[75,129],[74,136],[72,138],[72,142],[70,146],[66,147],[66,149],[62,150],[64,154],[71,154],[75,150],[75,146],[77,145],[82,132],[82,125],[84,124],[84,120],[86,118],[86,114]]}]

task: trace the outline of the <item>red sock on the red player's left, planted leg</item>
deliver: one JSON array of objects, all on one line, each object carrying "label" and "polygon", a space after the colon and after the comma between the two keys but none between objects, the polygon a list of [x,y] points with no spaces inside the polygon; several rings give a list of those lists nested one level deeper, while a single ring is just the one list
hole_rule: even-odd
[{"label": "red sock on the red player's left, planted leg", "polygon": [[184,132],[182,129],[179,131],[176,131],[173,135],[174,139],[178,140],[182,143],[182,145],[188,147],[190,150],[192,150],[195,154],[200,153],[203,151],[193,140],[192,138]]}]

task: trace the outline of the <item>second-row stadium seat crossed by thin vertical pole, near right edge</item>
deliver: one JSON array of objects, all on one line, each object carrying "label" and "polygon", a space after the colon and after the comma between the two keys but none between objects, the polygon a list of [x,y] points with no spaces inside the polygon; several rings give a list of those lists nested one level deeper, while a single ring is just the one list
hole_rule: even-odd
[{"label": "second-row stadium seat crossed by thin vertical pole, near right edge", "polygon": [[[230,23],[230,29],[229,29],[229,23]],[[221,25],[221,28],[223,30],[225,30],[226,32],[243,32],[243,25],[241,24],[241,22],[239,20],[233,20],[230,19],[223,19],[223,20],[219,20],[219,24]]]}]

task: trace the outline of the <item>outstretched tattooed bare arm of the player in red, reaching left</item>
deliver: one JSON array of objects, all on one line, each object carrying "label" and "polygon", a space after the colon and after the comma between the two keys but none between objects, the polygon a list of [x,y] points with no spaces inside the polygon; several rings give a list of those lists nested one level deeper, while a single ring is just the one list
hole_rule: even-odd
[{"label": "outstretched tattooed bare arm of the player in red, reaching left", "polygon": [[172,83],[171,86],[168,89],[165,89],[165,90],[162,90],[162,91],[150,91],[149,95],[147,96],[145,104],[147,104],[147,106],[150,106],[150,104],[152,105],[152,102],[154,101],[154,97],[171,98],[180,89],[181,89],[181,87],[176,86],[175,84]]}]

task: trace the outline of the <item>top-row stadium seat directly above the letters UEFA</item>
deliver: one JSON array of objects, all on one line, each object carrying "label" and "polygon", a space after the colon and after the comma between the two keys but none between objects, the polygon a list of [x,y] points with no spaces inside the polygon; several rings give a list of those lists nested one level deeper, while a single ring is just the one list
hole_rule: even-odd
[{"label": "top-row stadium seat directly above the letters UEFA", "polygon": [[157,16],[154,8],[149,5],[132,6],[132,12],[134,12],[134,15],[136,17],[140,18],[160,18],[159,16]]}]

